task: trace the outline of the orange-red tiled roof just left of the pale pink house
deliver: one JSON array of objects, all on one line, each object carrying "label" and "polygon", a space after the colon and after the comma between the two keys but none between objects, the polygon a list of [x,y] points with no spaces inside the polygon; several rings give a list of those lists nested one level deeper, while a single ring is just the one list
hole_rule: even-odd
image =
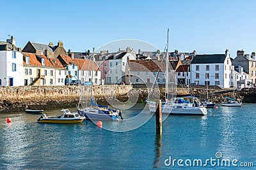
[{"label": "orange-red tiled roof just left of the pale pink house", "polygon": [[[73,59],[72,62],[78,66],[79,70],[92,70],[92,60],[88,59]],[[93,71],[100,71],[98,65],[93,63]]]}]

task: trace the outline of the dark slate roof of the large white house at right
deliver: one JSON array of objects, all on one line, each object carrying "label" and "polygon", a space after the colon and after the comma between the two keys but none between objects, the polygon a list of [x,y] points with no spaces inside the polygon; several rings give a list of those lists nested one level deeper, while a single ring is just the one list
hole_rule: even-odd
[{"label": "dark slate roof of the large white house at right", "polygon": [[224,63],[226,57],[227,56],[225,54],[196,55],[191,64]]}]

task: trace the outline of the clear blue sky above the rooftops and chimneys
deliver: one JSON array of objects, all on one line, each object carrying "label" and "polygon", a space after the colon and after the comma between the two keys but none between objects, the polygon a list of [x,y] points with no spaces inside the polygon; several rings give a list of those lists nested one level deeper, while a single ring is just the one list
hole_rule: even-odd
[{"label": "clear blue sky above the rooftops and chimneys", "polygon": [[[3,6],[4,5],[4,6]],[[170,51],[224,53],[256,51],[256,1],[6,1],[1,4],[0,41],[13,35],[83,52],[118,39],[140,39]],[[118,50],[118,49],[116,49]]]}]

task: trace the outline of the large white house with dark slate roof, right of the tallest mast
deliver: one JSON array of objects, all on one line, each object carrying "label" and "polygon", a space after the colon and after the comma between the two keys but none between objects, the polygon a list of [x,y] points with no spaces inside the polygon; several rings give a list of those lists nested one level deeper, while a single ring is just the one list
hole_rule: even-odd
[{"label": "large white house with dark slate roof, right of the tallest mast", "polygon": [[231,66],[228,50],[225,54],[196,55],[191,62],[191,83],[229,88]]}]

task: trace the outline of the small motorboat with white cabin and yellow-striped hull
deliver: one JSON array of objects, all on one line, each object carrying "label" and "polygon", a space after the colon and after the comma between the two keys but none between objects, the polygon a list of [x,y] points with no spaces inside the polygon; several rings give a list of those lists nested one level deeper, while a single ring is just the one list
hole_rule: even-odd
[{"label": "small motorboat with white cabin and yellow-striped hull", "polygon": [[71,113],[69,110],[61,110],[63,114],[61,116],[46,116],[42,114],[37,119],[40,123],[52,123],[52,124],[75,124],[81,123],[85,117],[81,117],[78,113]]}]

